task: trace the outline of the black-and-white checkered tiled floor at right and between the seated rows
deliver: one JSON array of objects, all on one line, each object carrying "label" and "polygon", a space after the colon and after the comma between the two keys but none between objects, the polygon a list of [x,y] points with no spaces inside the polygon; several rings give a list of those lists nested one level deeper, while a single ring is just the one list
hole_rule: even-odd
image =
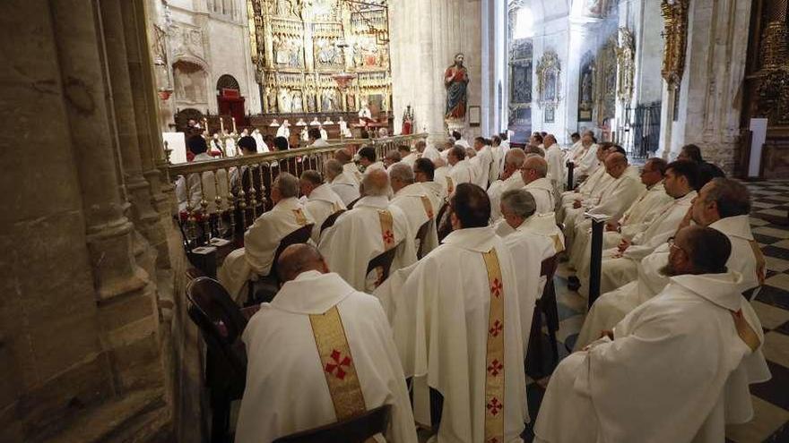
[{"label": "black-and-white checkered tiled floor at right and between the seated rows", "polygon": [[[779,218],[789,211],[789,181],[747,183],[753,201],[751,227],[767,260],[767,280],[753,302],[765,329],[764,354],[772,379],[751,386],[754,419],[726,429],[728,442],[779,443],[789,442],[789,225],[781,226]],[[567,356],[564,342],[575,343],[583,324],[586,299],[567,287],[566,265],[556,277],[559,301],[559,358]],[[530,371],[534,372],[534,371]],[[544,373],[544,372],[543,372]],[[527,379],[529,413],[537,417],[547,377]],[[532,436],[527,430],[526,441]]]}]

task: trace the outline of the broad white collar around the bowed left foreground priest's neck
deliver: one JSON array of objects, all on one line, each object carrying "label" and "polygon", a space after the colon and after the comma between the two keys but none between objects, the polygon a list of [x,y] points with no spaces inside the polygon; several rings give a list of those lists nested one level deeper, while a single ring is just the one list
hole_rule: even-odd
[{"label": "broad white collar around the bowed left foreground priest's neck", "polygon": [[334,272],[323,274],[310,270],[282,285],[271,305],[298,314],[322,314],[354,292],[355,289]]}]

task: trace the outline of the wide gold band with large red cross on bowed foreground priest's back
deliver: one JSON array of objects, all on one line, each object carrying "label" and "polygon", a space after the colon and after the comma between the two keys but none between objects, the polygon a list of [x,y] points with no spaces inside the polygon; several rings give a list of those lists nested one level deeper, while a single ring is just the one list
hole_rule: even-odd
[{"label": "wide gold band with large red cross on bowed foreground priest's back", "polygon": [[337,421],[365,413],[367,406],[337,306],[323,314],[310,315],[309,323],[312,325],[312,335],[315,337],[317,354],[324,369]]}]

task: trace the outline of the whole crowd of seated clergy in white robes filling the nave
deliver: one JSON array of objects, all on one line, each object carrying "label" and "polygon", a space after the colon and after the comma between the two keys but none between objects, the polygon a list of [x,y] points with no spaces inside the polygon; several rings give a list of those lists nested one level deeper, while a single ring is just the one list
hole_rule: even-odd
[{"label": "whole crowd of seated clergy in white robes filling the nave", "polygon": [[[280,172],[218,269],[230,299],[259,306],[240,338],[236,441],[381,407],[377,441],[395,442],[722,442],[750,421],[750,385],[770,373],[747,188],[694,145],[634,164],[593,132],[572,140],[454,132]],[[189,147],[204,156],[201,137]],[[260,189],[248,173],[230,171],[231,192]],[[182,179],[182,207],[211,201],[199,180]],[[599,296],[537,414],[525,368],[547,358],[533,347],[559,262],[573,290]]]}]

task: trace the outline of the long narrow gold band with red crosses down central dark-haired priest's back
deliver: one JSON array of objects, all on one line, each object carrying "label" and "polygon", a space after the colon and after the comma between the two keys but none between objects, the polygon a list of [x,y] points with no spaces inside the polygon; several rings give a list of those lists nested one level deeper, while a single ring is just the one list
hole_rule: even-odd
[{"label": "long narrow gold band with red crosses down central dark-haired priest's back", "polygon": [[485,441],[504,440],[504,285],[499,256],[491,249],[482,254],[490,283],[490,317],[485,356]]}]

